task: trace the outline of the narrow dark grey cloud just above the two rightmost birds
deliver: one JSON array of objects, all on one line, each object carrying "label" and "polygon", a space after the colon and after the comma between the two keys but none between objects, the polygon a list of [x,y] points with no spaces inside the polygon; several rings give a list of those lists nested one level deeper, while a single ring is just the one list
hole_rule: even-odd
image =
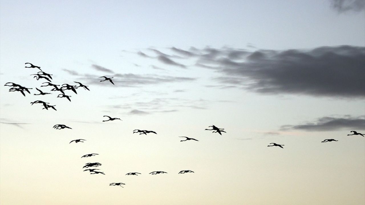
[{"label": "narrow dark grey cloud just above the two rightmost birds", "polygon": [[363,117],[321,117],[315,122],[307,122],[298,125],[283,125],[281,130],[299,129],[305,131],[334,131],[339,129],[364,130],[365,119]]}]

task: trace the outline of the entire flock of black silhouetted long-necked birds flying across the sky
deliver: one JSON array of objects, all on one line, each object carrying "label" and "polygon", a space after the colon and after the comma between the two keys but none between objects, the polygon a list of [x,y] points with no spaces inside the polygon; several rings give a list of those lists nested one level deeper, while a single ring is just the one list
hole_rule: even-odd
[{"label": "entire flock of black silhouetted long-necked birds flying across the sky", "polygon": [[[29,64],[29,66],[26,68],[37,68],[39,70],[41,70],[41,67],[39,66],[35,66],[33,65],[32,63],[25,63],[25,64]],[[50,90],[50,91],[58,91],[58,92],[61,92],[61,94],[58,94],[57,98],[66,98],[67,100],[71,101],[70,97],[71,96],[68,96],[65,94],[65,91],[66,90],[71,90],[72,92],[74,92],[75,94],[77,94],[77,91],[76,89],[78,88],[84,88],[85,90],[89,90],[88,86],[87,85],[83,85],[82,83],[80,82],[76,82],[74,81],[75,83],[77,83],[78,85],[69,85],[69,84],[62,84],[61,87],[58,87],[60,85],[55,85],[55,84],[52,84],[51,80],[53,80],[52,78],[52,74],[48,74],[48,73],[45,73],[44,71],[39,71],[37,72],[37,74],[31,74],[31,76],[34,76],[34,78],[36,80],[40,80],[40,79],[45,79],[49,82],[43,82],[42,85],[40,87],[46,87],[46,86],[52,86],[53,88]],[[105,77],[105,76],[102,76],[102,77],[99,77],[99,78],[104,78],[104,80],[101,80],[100,82],[103,82],[103,81],[109,81],[111,82],[113,85],[114,85],[114,82],[112,81],[112,78],[113,77]],[[23,96],[26,96],[25,92],[29,93],[30,94],[30,89],[32,88],[26,88],[24,86],[21,86],[19,84],[15,84],[13,82],[7,82],[4,86],[10,86],[12,88],[9,89],[9,92],[15,92],[15,91],[18,91],[20,93],[23,94]],[[38,90],[38,94],[34,94],[34,95],[46,95],[46,94],[51,94],[51,93],[46,93],[46,92],[43,92],[42,90],[38,89],[37,87],[35,88],[36,90]],[[89,90],[90,91],[90,90]],[[31,102],[30,104],[33,105],[33,104],[41,104],[43,106],[42,109],[46,109],[48,110],[48,108],[52,108],[54,109],[55,111],[57,111],[57,109],[55,108],[56,105],[48,105],[49,102],[44,102],[44,101],[41,101],[41,100],[36,100],[34,102]],[[107,120],[103,120],[103,122],[106,122],[106,121],[113,121],[113,120],[121,120],[120,118],[116,118],[116,117],[110,117],[110,116],[107,116],[107,115],[104,115],[103,117],[107,117],[108,119]],[[226,131],[224,131],[224,129],[222,128],[218,128],[216,127],[215,125],[212,125],[212,126],[209,126],[211,127],[211,129],[205,129],[205,130],[212,130],[212,133],[218,133],[219,135],[222,135],[222,132],[224,133],[227,133]],[[68,129],[72,129],[64,124],[57,124],[57,125],[54,125],[53,126],[54,129],[65,129],[65,128],[68,128]],[[356,131],[351,131],[353,134],[348,134],[347,136],[349,135],[361,135],[363,137],[364,134],[361,134],[361,133],[358,133]],[[139,129],[135,129],[133,130],[133,134],[134,133],[139,133],[139,135],[147,135],[148,133],[154,133],[154,134],[157,134],[155,131],[149,131],[149,130],[139,130]],[[188,138],[188,137],[185,137],[185,136],[179,136],[180,138],[185,138],[185,140],[180,140],[180,142],[184,142],[184,141],[187,141],[187,140],[195,140],[195,141],[199,141],[197,139],[193,139],[193,138]],[[75,140],[72,140],[70,143],[72,142],[75,142],[75,143],[78,143],[78,142],[84,142],[84,141],[87,141],[85,139],[75,139]],[[335,139],[325,139],[323,140],[322,142],[332,142],[332,141],[338,141],[338,140],[335,140]],[[281,147],[281,148],[284,148],[284,144],[276,144],[276,143],[270,143],[271,145],[268,145],[268,147],[271,147],[271,146],[278,146],[278,147]],[[91,157],[91,156],[96,156],[96,155],[99,155],[99,154],[95,154],[95,153],[92,153],[92,154],[86,154],[86,155],[83,155],[81,156],[81,158],[86,158],[86,157]],[[93,162],[93,163],[86,163],[85,166],[83,166],[82,168],[89,168],[89,167],[99,167],[101,166],[101,163],[98,163],[98,162]],[[89,171],[90,174],[104,174],[104,172],[102,171],[96,171],[96,170],[100,170],[100,169],[85,169],[84,171]],[[153,171],[149,174],[151,175],[154,175],[154,174],[164,174],[167,172],[165,171]],[[182,170],[180,171],[178,174],[184,174],[184,173],[194,173],[193,171],[191,170]],[[138,172],[133,172],[133,173],[127,173],[126,175],[138,175],[138,174],[141,174],[141,173],[138,173]],[[110,183],[109,186],[121,186],[123,187],[122,185],[125,185],[124,183],[121,183],[121,182],[118,182],[118,183]]]}]

